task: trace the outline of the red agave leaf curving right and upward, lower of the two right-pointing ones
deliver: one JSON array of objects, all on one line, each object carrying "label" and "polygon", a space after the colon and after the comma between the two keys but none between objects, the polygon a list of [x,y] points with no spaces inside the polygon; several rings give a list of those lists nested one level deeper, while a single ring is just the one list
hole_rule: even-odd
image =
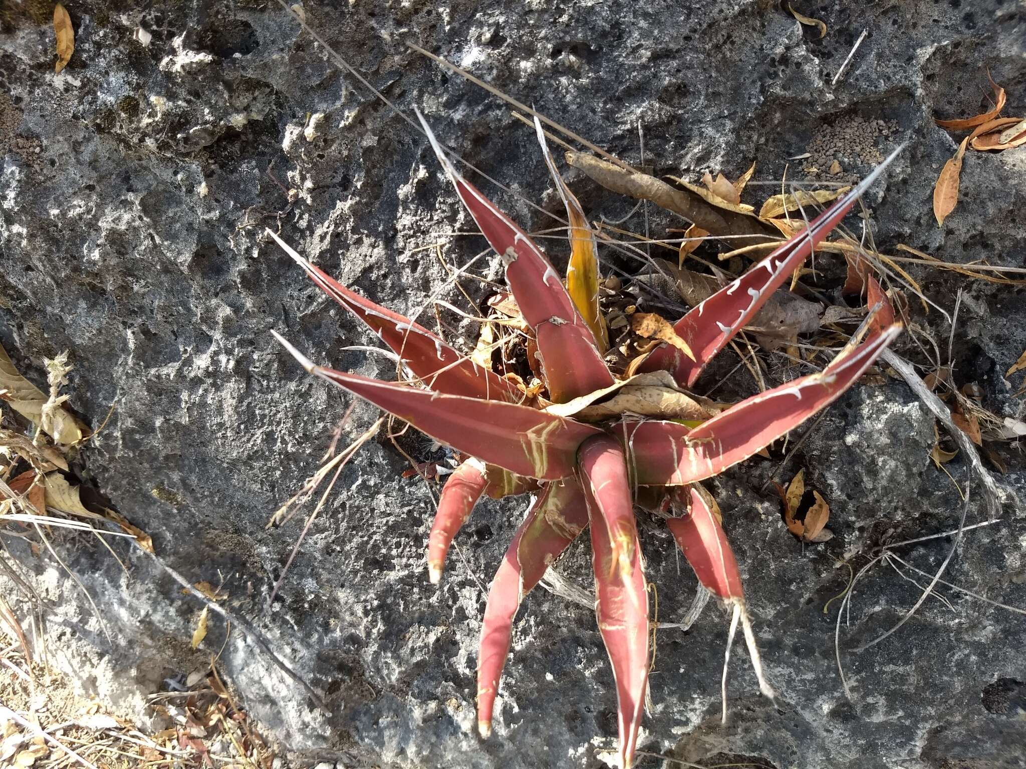
[{"label": "red agave leaf curving right and upward, lower of the two right-pointing ones", "polygon": [[893,325],[842,350],[823,371],[752,396],[694,430],[673,421],[621,422],[640,485],[678,486],[722,473],[833,403],[901,332]]}]

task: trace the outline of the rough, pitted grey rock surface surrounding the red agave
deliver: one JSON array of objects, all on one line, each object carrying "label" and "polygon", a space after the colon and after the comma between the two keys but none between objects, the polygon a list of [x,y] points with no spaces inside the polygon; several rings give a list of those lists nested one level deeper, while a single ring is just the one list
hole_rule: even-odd
[{"label": "rough, pitted grey rock surface surrounding the red agave", "polygon": [[[230,608],[323,695],[330,716],[232,630],[223,669],[292,765],[611,762],[616,698],[594,617],[542,591],[526,599],[516,626],[496,734],[476,736],[480,585],[524,503],[478,510],[458,540],[462,557],[435,589],[424,569],[431,494],[416,479],[401,479],[407,464],[382,437],[344,471],[280,598],[266,608],[300,525],[265,525],[315,468],[348,403],[304,375],[269,329],[341,369],[388,377],[391,364],[340,350],[372,342],[263,229],[280,227],[342,282],[407,314],[440,290],[459,300],[428,246],[444,244],[446,261],[462,265],[483,241],[447,235],[469,220],[424,138],[341,74],[277,3],[155,5],[69,2],[76,49],[56,76],[52,6],[26,0],[0,10],[0,340],[40,382],[41,358],[70,350],[71,404],[93,427],[117,406],[74,471],[153,536],[162,562],[189,581],[224,580]],[[875,150],[907,141],[869,196],[880,247],[894,253],[904,242],[951,261],[1026,266],[1026,150],[969,155],[959,207],[942,229],[931,211],[934,180],[957,144],[933,116],[987,109],[988,67],[1009,92],[1003,114],[1026,112],[1022,5],[795,5],[826,22],[824,39],[763,0],[302,9],[404,114],[418,106],[467,160],[550,210],[558,201],[532,132],[499,99],[411,53],[404,41],[467,67],[610,152],[690,178],[705,170],[733,178],[757,160],[756,179],[780,179],[787,158],[818,136],[830,137],[817,139],[821,156],[835,143],[844,174],[859,175]],[[831,85],[863,29],[869,35],[851,69]],[[877,148],[862,127],[844,128],[875,120],[895,126],[879,133]],[[846,146],[845,136],[856,144]],[[798,173],[792,163],[789,177]],[[633,206],[579,175],[568,178],[595,218],[621,218]],[[751,189],[758,200],[770,194]],[[522,199],[496,194],[528,229],[549,226]],[[669,220],[652,213],[653,232],[662,232]],[[625,227],[643,224],[635,216]],[[553,253],[558,261],[558,249]],[[842,274],[833,257],[820,259],[828,276]],[[1026,349],[1026,293],[909,271],[948,312],[964,288],[955,378],[978,382],[998,415],[1021,417],[1023,399],[1013,395],[1021,382],[1010,383],[1003,372]],[[939,310],[924,317],[912,309],[946,356],[950,327]],[[461,331],[471,338],[473,325]],[[910,357],[919,355],[905,345]],[[752,388],[739,378],[729,394]],[[345,436],[374,418],[373,409],[357,405]],[[430,450],[424,441],[402,440],[422,457]],[[839,560],[957,525],[958,491],[930,462],[933,441],[932,417],[900,382],[859,387],[830,409],[777,476],[784,481],[803,467],[806,483],[829,499],[835,537],[825,544],[796,542],[772,488],[763,490],[779,459],[755,459],[710,484],[746,577],[778,707],[758,696],[739,651],[731,722],[719,725],[727,623],[710,607],[687,633],[657,634],[654,709],[641,750],[703,765],[747,760],[778,769],[1026,766],[1020,615],[949,592],[950,607],[931,599],[894,636],[850,651],[918,597],[915,585],[878,564],[860,581],[851,626],[840,632],[852,699],[837,675],[839,601],[824,609],[849,579]],[[1009,451],[1005,460],[1001,523],[966,533],[945,578],[1021,607],[1026,513],[1015,494],[1026,473],[1021,454]],[[946,467],[964,486],[962,460]],[[985,516],[981,498],[975,485],[970,523]],[[690,602],[694,576],[679,569],[671,540],[653,521],[642,518],[641,528],[660,619],[674,621]],[[200,604],[154,559],[116,545],[125,573],[91,542],[60,538],[60,552],[103,607],[108,641],[54,562],[10,545],[60,606],[54,646],[86,693],[137,710],[163,679],[206,663],[206,652],[189,645]],[[950,539],[934,539],[896,552],[932,572],[949,547]],[[590,584],[584,545],[559,568]],[[216,652],[224,642],[224,625],[211,621],[205,648]]]}]

